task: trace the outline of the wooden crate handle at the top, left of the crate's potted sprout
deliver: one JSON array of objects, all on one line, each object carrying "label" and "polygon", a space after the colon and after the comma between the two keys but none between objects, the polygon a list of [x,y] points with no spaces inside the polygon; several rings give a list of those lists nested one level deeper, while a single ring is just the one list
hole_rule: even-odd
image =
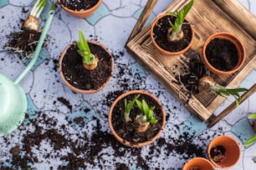
[{"label": "wooden crate handle at the top, left of the crate's potted sprout", "polygon": [[152,12],[153,8],[155,7],[157,1],[158,0],[148,0],[146,2],[146,6],[144,7],[140,18],[137,20],[137,23],[136,23],[135,27],[133,28],[133,30],[130,34],[130,37],[128,37],[126,44],[128,42],[130,42],[131,38],[135,37],[136,34],[141,31],[142,27],[146,23],[146,20],[151,15],[151,12]]}]

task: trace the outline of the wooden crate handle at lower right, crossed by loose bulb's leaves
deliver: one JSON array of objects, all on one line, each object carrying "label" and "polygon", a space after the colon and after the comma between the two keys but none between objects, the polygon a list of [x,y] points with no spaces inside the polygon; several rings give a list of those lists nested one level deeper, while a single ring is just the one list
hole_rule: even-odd
[{"label": "wooden crate handle at lower right, crossed by loose bulb's leaves", "polygon": [[[242,103],[245,101],[248,97],[250,97],[254,92],[256,92],[256,83],[248,89],[247,92],[244,92],[241,96],[239,102]],[[218,116],[209,118],[209,124],[207,125],[207,128],[212,128],[217,122],[223,119],[223,117],[227,116],[229,112],[233,111],[234,108],[236,108],[236,102],[232,102],[227,108],[223,110],[223,112],[219,113]]]}]

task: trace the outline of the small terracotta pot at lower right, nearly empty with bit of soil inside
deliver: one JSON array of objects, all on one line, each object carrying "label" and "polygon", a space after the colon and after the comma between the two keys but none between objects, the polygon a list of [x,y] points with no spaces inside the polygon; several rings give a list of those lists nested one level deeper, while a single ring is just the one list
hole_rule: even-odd
[{"label": "small terracotta pot at lower right, nearly empty with bit of soil inside", "polygon": [[[211,158],[210,151],[212,148],[217,146],[223,146],[226,150],[226,158],[224,158],[220,163],[216,163]],[[207,148],[207,156],[210,162],[218,168],[231,168],[233,165],[238,163],[241,155],[241,150],[238,143],[231,137],[219,136],[214,138],[211,143],[209,143]]]}]

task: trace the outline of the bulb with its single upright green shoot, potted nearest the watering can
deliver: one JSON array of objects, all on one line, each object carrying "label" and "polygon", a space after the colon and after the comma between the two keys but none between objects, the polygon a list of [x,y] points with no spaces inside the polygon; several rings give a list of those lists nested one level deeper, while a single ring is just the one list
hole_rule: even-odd
[{"label": "bulb with its single upright green shoot, potted nearest the watering can", "polygon": [[77,52],[83,57],[84,67],[90,70],[95,69],[95,67],[97,67],[98,57],[95,57],[95,55],[90,52],[88,42],[81,30],[79,30],[79,42],[77,42],[77,47],[79,48]]}]

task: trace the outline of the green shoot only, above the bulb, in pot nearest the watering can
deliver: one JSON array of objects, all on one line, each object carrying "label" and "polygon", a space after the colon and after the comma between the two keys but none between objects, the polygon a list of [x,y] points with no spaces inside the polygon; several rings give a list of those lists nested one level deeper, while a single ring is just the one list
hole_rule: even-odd
[{"label": "green shoot only, above the bulb, in pot nearest the watering can", "polygon": [[79,30],[79,42],[77,42],[77,47],[79,48],[77,52],[83,57],[85,64],[89,65],[94,61],[95,56],[90,52],[88,42],[81,30]]}]

